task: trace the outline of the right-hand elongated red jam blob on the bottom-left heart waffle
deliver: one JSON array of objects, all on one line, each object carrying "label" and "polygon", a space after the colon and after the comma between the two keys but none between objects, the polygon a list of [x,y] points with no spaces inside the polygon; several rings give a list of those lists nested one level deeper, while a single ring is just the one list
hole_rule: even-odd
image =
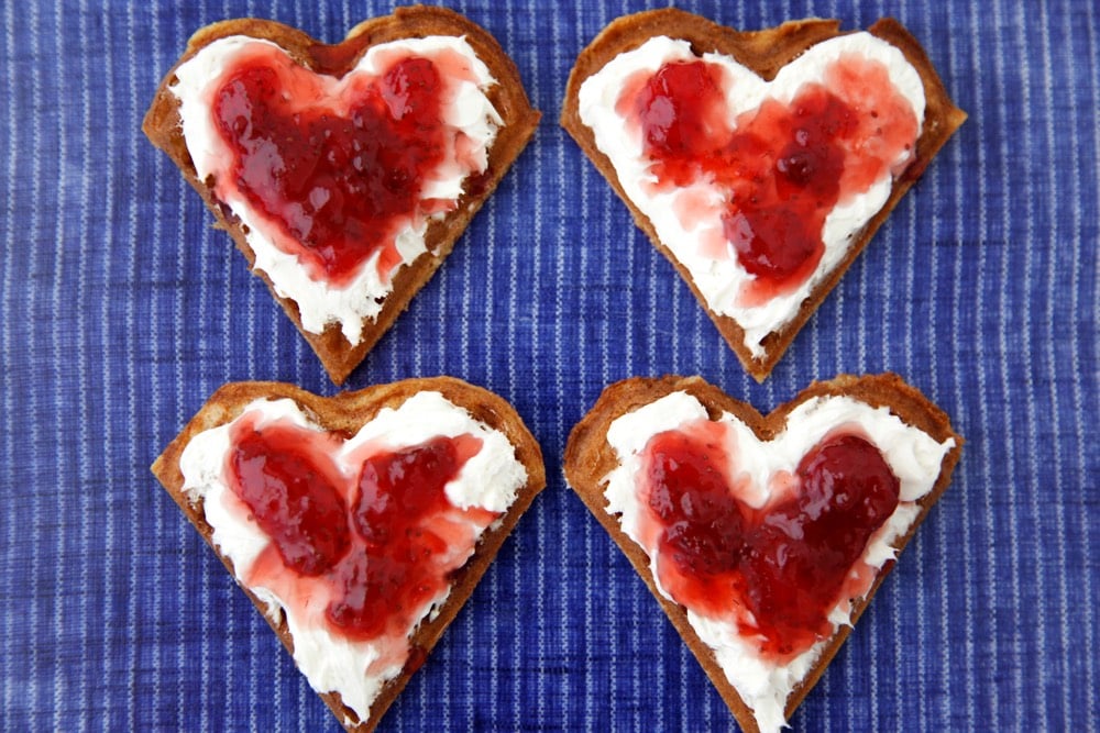
[{"label": "right-hand elongated red jam blob on the bottom-left heart waffle", "polygon": [[366,557],[337,578],[337,597],[327,611],[333,624],[372,637],[395,619],[406,622],[446,588],[431,559],[448,545],[432,520],[451,506],[444,487],[463,463],[454,441],[440,437],[363,464],[352,523],[366,543]]}]

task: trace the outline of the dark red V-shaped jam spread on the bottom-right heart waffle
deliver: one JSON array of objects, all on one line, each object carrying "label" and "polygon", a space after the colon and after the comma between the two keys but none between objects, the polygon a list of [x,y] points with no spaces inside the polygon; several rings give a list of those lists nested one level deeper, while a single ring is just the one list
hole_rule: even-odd
[{"label": "dark red V-shaped jam spread on the bottom-right heart waffle", "polygon": [[642,533],[662,587],[696,613],[732,618],[780,663],[832,634],[831,611],[860,595],[857,563],[899,501],[882,454],[850,433],[809,451],[759,508],[738,498],[718,423],[654,435],[644,460]]}]

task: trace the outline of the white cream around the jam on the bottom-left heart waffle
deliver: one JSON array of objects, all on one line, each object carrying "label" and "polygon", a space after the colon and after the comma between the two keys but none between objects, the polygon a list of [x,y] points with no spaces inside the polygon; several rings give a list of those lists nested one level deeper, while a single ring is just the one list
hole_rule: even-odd
[{"label": "white cream around the jam on the bottom-left heart waffle", "polygon": [[[257,427],[286,421],[323,432],[309,414],[288,399],[256,400],[237,420],[245,417],[258,418]],[[233,422],[196,435],[184,449],[179,468],[188,499],[202,501],[206,520],[213,527],[213,544],[232,560],[238,582],[246,585],[244,578],[249,577],[253,564],[271,541],[254,521],[240,511],[239,501],[229,488],[224,467],[231,448],[232,425]],[[444,487],[447,498],[459,509],[482,508],[505,512],[527,482],[526,468],[516,458],[515,448],[503,433],[474,420],[439,392],[420,392],[396,410],[382,410],[340,446],[334,463],[345,477],[353,478],[362,466],[364,451],[366,455],[380,451],[393,452],[420,445],[437,436],[468,434],[481,440],[481,449]],[[473,530],[476,543],[483,530],[479,526]],[[414,614],[415,621],[406,634],[404,648],[395,654],[385,641],[353,641],[331,633],[323,621],[330,600],[328,597],[310,597],[304,603],[298,598],[292,603],[270,588],[250,587],[250,590],[266,602],[270,617],[277,619],[280,611],[286,614],[287,626],[294,635],[295,664],[310,686],[318,692],[339,692],[344,704],[354,710],[361,721],[370,718],[371,706],[383,686],[400,674],[408,653],[408,637],[424,619],[433,618],[450,593],[444,591]],[[302,609],[300,614],[299,607]],[[378,666],[376,662],[389,659],[394,662],[385,664],[383,669],[375,669],[374,674],[369,671],[372,666]]]}]

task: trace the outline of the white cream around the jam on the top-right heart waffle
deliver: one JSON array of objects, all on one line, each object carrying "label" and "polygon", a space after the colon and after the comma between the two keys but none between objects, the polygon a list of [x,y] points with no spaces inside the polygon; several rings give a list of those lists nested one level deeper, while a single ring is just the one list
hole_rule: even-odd
[{"label": "white cream around the jam on the top-right heart waffle", "polygon": [[[920,136],[925,105],[921,76],[901,51],[869,33],[851,33],[812,46],[780,69],[770,82],[728,56],[705,54],[703,60],[722,69],[733,122],[759,108],[765,99],[790,102],[803,85],[823,82],[826,68],[847,54],[879,62],[887,68],[890,81],[913,108]],[[697,58],[686,41],[652,37],[638,48],[619,54],[585,79],[580,90],[579,111],[581,120],[592,129],[596,146],[614,166],[627,197],[649,219],[661,242],[691,273],[711,310],[737,321],[745,331],[745,346],[754,356],[760,357],[765,353],[760,342],[789,323],[806,297],[845,258],[854,235],[887,202],[893,178],[887,171],[867,191],[833,209],[822,231],[824,255],[816,270],[801,286],[760,304],[741,304],[738,301],[743,288],[755,276],[741,266],[737,257],[715,258],[706,254],[705,246],[708,237],[723,236],[719,219],[726,195],[706,180],[695,181],[680,191],[654,191],[652,184],[656,178],[650,173],[641,132],[630,132],[627,119],[615,109],[626,81],[636,74],[652,75],[666,64]],[[910,155],[911,152],[906,151],[895,162],[895,167],[905,164]],[[700,213],[685,223],[676,214],[675,203],[689,200]],[[702,210],[710,210],[713,215],[703,216]]]}]

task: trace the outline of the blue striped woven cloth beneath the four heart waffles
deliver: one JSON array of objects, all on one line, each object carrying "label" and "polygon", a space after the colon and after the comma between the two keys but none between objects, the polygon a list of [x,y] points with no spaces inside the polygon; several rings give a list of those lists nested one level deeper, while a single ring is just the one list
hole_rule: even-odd
[{"label": "blue striped woven cloth beneath the four heart waffles", "polygon": [[[576,53],[637,2],[455,3],[543,122],[349,382],[512,400],[550,486],[384,730],[704,730],[733,719],[565,488],[608,382],[701,374],[760,410],[895,370],[963,463],[795,730],[1096,730],[1100,9],[684,3],[751,29],[894,14],[970,120],[763,385],[558,126]],[[0,729],[336,730],[148,465],[226,381],[333,393],[141,118],[188,35],[246,14],[328,41],[388,2],[0,3]]]}]

